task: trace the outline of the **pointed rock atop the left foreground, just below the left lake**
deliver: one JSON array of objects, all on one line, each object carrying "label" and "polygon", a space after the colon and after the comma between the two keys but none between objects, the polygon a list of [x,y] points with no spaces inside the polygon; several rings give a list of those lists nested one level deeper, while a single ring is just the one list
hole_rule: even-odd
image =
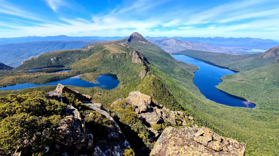
[{"label": "pointed rock atop the left foreground, just below the left lake", "polygon": [[74,94],[79,101],[91,101],[92,100],[92,98],[89,95],[82,95],[78,91],[65,87],[64,85],[62,85],[60,83],[58,83],[55,91],[52,91],[49,93],[49,96],[52,96],[54,98],[60,98],[66,92]]}]

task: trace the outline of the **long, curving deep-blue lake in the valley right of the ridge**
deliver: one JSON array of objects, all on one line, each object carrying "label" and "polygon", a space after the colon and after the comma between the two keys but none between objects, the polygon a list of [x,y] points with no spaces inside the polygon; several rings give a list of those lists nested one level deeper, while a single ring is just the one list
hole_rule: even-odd
[{"label": "long, curving deep-blue lake in the valley right of the ridge", "polygon": [[221,77],[235,72],[225,68],[207,64],[206,61],[186,55],[173,54],[175,59],[197,65],[198,71],[195,72],[194,84],[200,92],[212,101],[233,107],[254,108],[255,105],[247,100],[220,91],[215,86],[222,82]]}]

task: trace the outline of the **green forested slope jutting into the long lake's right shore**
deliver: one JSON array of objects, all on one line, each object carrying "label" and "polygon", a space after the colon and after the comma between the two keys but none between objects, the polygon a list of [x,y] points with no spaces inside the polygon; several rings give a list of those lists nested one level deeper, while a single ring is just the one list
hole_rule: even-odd
[{"label": "green forested slope jutting into the long lake's right shore", "polygon": [[216,87],[261,105],[261,109],[279,111],[279,61],[222,77]]}]

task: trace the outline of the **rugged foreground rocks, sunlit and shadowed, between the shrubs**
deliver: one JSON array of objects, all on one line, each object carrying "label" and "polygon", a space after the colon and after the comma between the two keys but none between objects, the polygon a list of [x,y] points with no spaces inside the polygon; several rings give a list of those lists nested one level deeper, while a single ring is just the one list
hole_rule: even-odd
[{"label": "rugged foreground rocks, sunlit and shadowed, between the shrubs", "polygon": [[[53,145],[45,147],[45,151],[42,153],[63,156],[134,155],[134,152],[127,151],[127,149],[135,149],[136,147],[131,146],[121,131],[117,123],[121,121],[119,114],[115,115],[116,118],[119,117],[115,120],[101,104],[90,102],[90,96],[82,95],[61,84],[58,84],[56,90],[48,95],[50,99],[65,102],[67,100],[65,96],[68,95],[65,93],[73,95],[79,101],[76,104],[81,105],[78,109],[75,108],[76,105],[74,105],[75,107],[67,105],[63,108],[63,117],[58,126],[54,128],[57,137]],[[139,91],[132,91],[126,99],[116,100],[109,109],[117,109],[123,105],[124,108],[128,108],[128,106],[133,108],[135,116],[139,122],[143,123],[143,128],[150,132],[148,141],[153,142],[153,144],[148,144],[145,148],[135,151],[136,155],[244,155],[246,146],[244,143],[222,137],[205,127],[199,128],[194,125],[193,118],[186,112],[170,111],[153,102],[150,96]],[[86,115],[85,111],[79,111],[81,107],[87,107],[90,112],[87,111]],[[87,118],[93,117],[93,122],[86,122]],[[166,125],[165,128],[160,127],[164,125]],[[13,155],[32,155],[34,152],[31,141],[18,147]]]}]

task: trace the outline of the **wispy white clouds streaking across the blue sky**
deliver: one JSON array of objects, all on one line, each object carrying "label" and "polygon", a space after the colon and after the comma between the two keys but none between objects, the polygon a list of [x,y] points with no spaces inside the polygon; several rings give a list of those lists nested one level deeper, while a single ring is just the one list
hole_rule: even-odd
[{"label": "wispy white clouds streaking across the blue sky", "polygon": [[[2,2],[3,0],[0,0]],[[61,7],[70,7],[62,0],[45,0],[49,7],[58,12]],[[107,13],[94,13],[92,18],[60,16],[52,22],[32,24],[32,26],[10,26],[14,31],[1,31],[4,36],[27,35],[70,35],[70,36],[126,36],[140,32],[148,36],[188,36],[188,37],[254,37],[278,39],[279,3],[266,4],[272,0],[243,0],[215,5],[203,11],[185,6],[169,6],[158,12],[160,6],[173,3],[170,0],[138,0],[126,5],[118,5]],[[5,1],[4,1],[5,2]],[[16,14],[24,18],[37,19],[32,13],[15,5],[0,6],[0,13]],[[178,4],[179,5],[179,4]],[[262,5],[267,7],[262,10]],[[277,7],[276,7],[277,6]],[[168,7],[168,6],[167,6]],[[189,11],[194,10],[193,12]],[[33,15],[33,16],[32,16]],[[42,19],[40,19],[42,20]],[[42,20],[43,21],[43,20]]]}]

